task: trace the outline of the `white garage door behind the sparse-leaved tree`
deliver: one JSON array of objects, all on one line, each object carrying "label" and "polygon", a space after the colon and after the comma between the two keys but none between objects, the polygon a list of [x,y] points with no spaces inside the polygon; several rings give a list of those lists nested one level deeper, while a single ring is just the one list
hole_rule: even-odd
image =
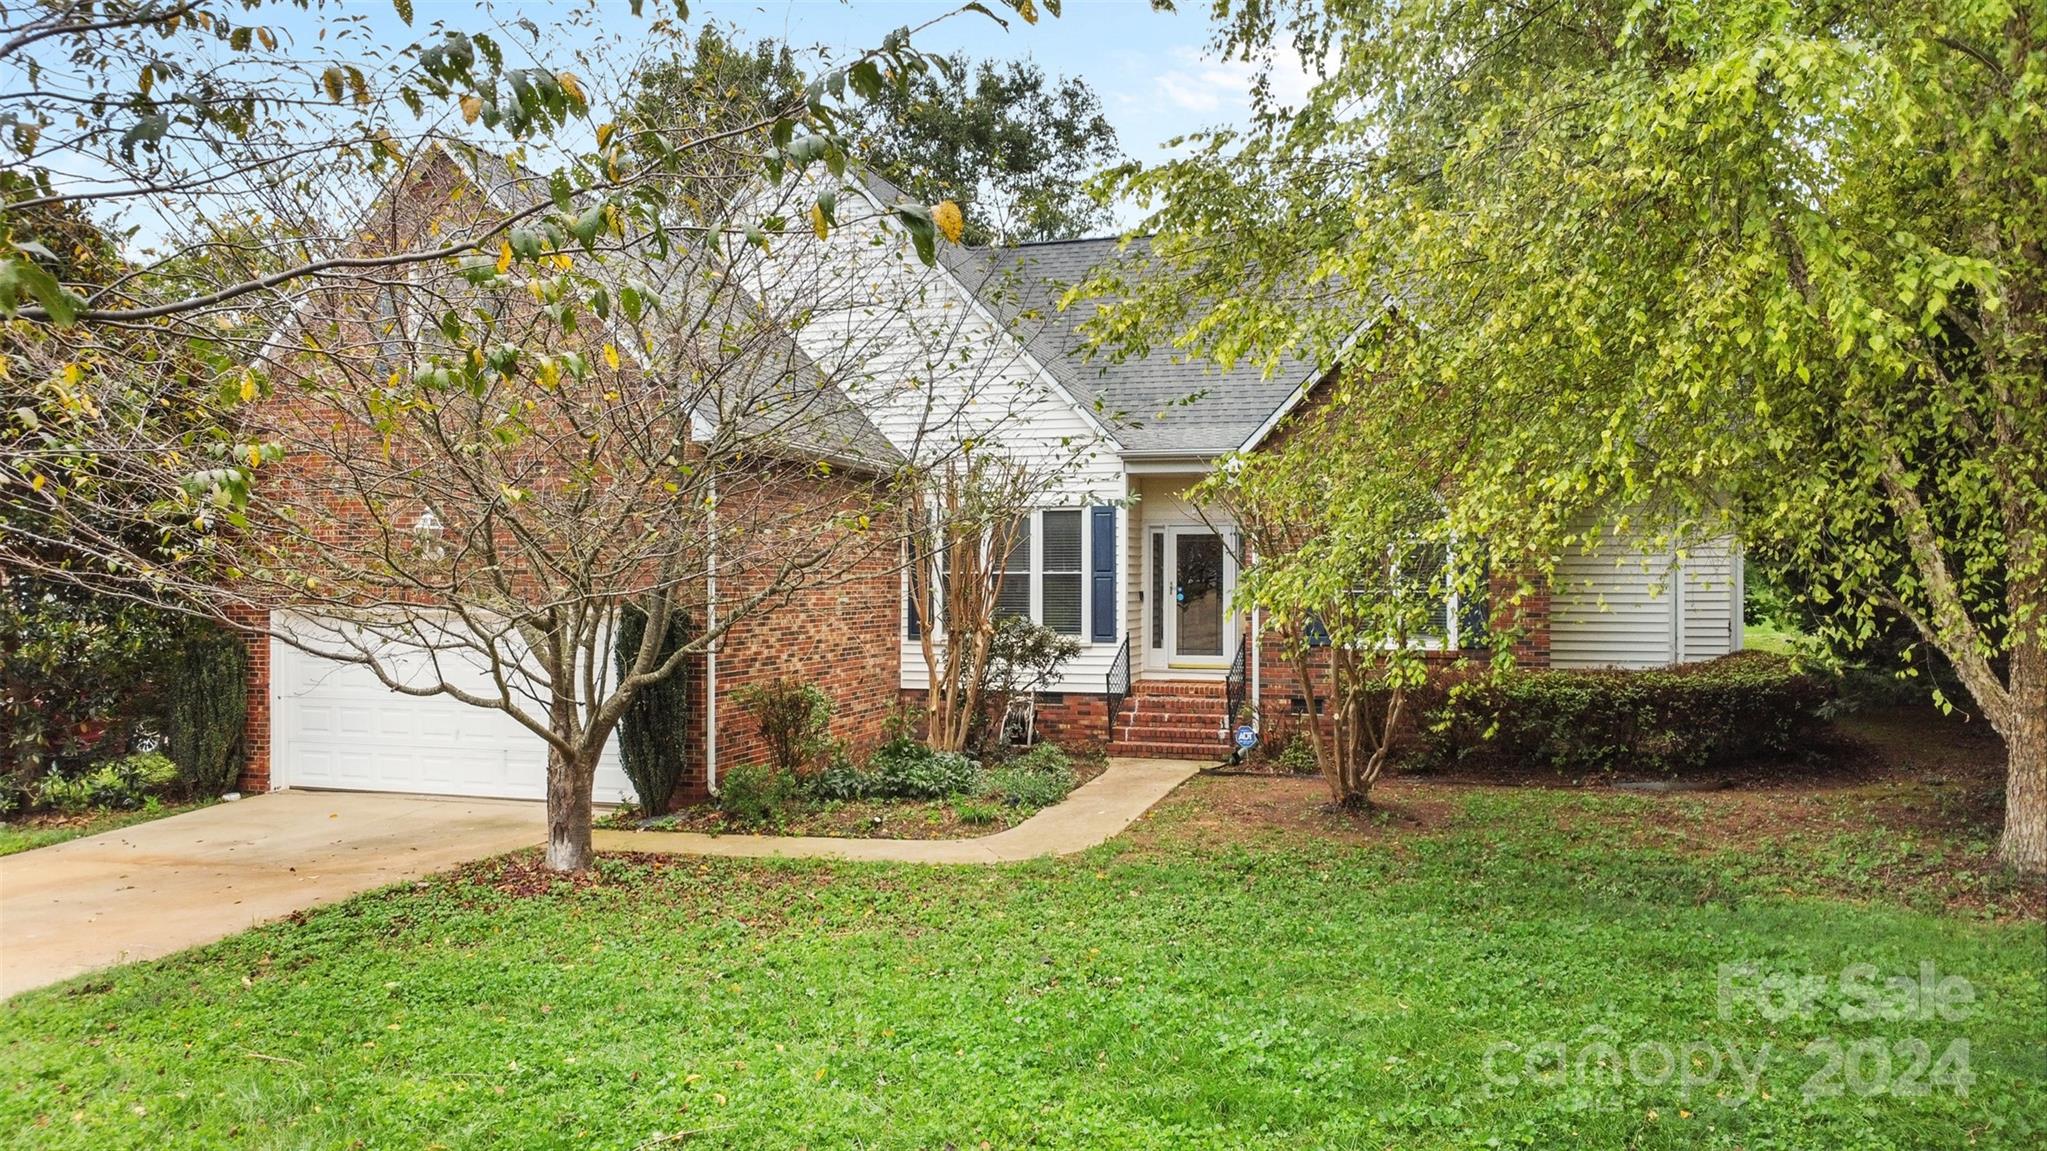
[{"label": "white garage door behind the sparse-leaved tree", "polygon": [[[413,659],[424,668],[424,653]],[[456,686],[491,694],[481,670],[444,659],[442,672]],[[547,743],[502,711],[393,692],[358,664],[323,659],[272,639],[270,780],[272,786],[545,799]],[[596,801],[633,803],[616,739],[598,764]]]}]

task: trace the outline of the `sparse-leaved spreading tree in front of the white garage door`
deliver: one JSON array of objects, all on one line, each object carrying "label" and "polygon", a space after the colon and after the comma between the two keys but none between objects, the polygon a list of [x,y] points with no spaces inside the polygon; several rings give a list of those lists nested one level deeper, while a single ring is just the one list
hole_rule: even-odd
[{"label": "sparse-leaved spreading tree in front of the white garage door", "polygon": [[[96,25],[139,53],[121,59],[160,51],[143,31],[166,51],[215,49],[205,37],[219,23],[186,18],[197,6],[154,20],[102,8],[16,23],[0,59],[98,43]],[[878,328],[804,354],[792,334],[827,328],[843,283],[770,293],[751,254],[825,246],[864,215],[888,215],[913,262],[958,238],[948,205],[841,197],[852,172],[835,100],[913,70],[905,35],[772,117],[706,137],[647,125],[628,139],[604,111],[676,37],[657,20],[635,51],[620,37],[620,51],[590,55],[608,72],[495,84],[473,72],[495,70],[497,49],[469,37],[463,53],[442,37],[440,53],[399,53],[389,84],[344,70],[342,98],[325,92],[348,115],[395,117],[387,102],[411,102],[403,80],[432,92],[454,53],[461,68],[440,80],[448,119],[489,145],[456,129],[323,154],[278,125],[256,143],[205,119],[192,135],[166,129],[135,186],[184,197],[197,240],[174,260],[135,260],[113,295],[61,281],[51,293],[20,270],[41,260],[25,240],[6,373],[35,381],[35,403],[10,414],[0,469],[8,563],[242,627],[274,621],[278,639],[360,664],[391,690],[510,715],[547,745],[549,866],[587,866],[596,762],[635,692],[737,621],[870,553],[899,555],[886,528],[901,465],[845,416],[870,385],[856,377]],[[274,39],[223,43],[254,53],[246,45],[272,51]],[[149,68],[160,82],[190,74]],[[272,76],[254,90],[285,86]],[[561,131],[571,121],[587,135]],[[549,174],[528,164],[540,123],[555,125]],[[63,141],[94,160],[147,143],[113,131]],[[274,168],[262,180],[192,168],[213,145]],[[317,156],[340,160],[315,178]],[[676,195],[680,172],[692,195]],[[332,209],[350,176],[362,176],[360,199]],[[219,227],[225,211],[250,227]],[[276,270],[244,274],[250,262]],[[205,418],[164,418],[192,397]],[[626,606],[645,614],[649,641],[612,672]],[[663,651],[655,637],[676,612],[702,627]]]}]

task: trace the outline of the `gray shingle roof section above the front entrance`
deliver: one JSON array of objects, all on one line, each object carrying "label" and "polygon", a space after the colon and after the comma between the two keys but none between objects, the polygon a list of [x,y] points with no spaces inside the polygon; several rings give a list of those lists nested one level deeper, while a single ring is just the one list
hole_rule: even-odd
[{"label": "gray shingle roof section above the front entrance", "polygon": [[1095,410],[1126,451],[1222,453],[1249,438],[1308,379],[1312,365],[1288,360],[1222,369],[1173,348],[1148,356],[1089,354],[1081,326],[1109,301],[1079,301],[1060,311],[1069,287],[1095,268],[1122,264],[1126,274],[1171,274],[1150,262],[1144,238],[1058,240],[1015,248],[940,246],[942,260],[968,291],[1026,342],[1032,356],[1073,397]]}]

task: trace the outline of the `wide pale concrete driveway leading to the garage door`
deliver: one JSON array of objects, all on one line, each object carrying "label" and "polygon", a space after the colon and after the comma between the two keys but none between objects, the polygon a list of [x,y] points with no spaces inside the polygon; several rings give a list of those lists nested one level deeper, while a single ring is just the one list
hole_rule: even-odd
[{"label": "wide pale concrete driveway leading to the garage door", "polygon": [[0,997],[547,838],[540,803],[278,791],[0,858]]}]

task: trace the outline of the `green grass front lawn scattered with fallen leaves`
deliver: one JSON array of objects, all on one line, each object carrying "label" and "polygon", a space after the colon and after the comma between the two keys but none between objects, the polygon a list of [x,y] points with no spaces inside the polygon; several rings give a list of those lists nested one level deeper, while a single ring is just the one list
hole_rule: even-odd
[{"label": "green grass front lawn scattered with fallen leaves", "polygon": [[[1855,823],[1867,795],[1756,827],[1717,795],[1396,784],[1390,815],[1353,825],[1314,813],[1314,788],[1193,780],[1109,846],[1005,868],[614,858],[590,885],[530,893],[530,864],[481,864],[16,999],[0,1018],[0,1141],[2047,1139],[2041,924],[2010,911],[2037,905],[1891,897],[1898,852],[1861,858],[1898,840]],[[1920,815],[1904,862],[1981,854],[1981,827]],[[1732,842],[1728,825],[1748,832]],[[1722,1012],[1719,965],[1744,961],[1830,983],[1850,963],[1932,965],[1975,999],[1961,1020],[1848,1020],[1838,987],[1812,1018]],[[1859,1053],[1855,1085],[1814,1079],[1822,1040]],[[1967,1040],[1965,1096],[1861,1094],[1898,1085],[1914,1040],[1934,1057]],[[1539,1045],[1566,1045],[1572,1073],[1529,1075],[1521,1053],[1554,1051]],[[1654,1081],[1654,1047],[1644,1075],[1625,1073],[1642,1045],[1679,1053],[1693,1083]],[[1730,1045],[1750,1067],[1769,1047],[1754,1094],[1726,1067],[1707,1075],[1707,1051],[1726,1061]],[[1883,1075],[1877,1045],[1893,1053]],[[1844,1090],[1805,1098],[1810,1081]]]}]

